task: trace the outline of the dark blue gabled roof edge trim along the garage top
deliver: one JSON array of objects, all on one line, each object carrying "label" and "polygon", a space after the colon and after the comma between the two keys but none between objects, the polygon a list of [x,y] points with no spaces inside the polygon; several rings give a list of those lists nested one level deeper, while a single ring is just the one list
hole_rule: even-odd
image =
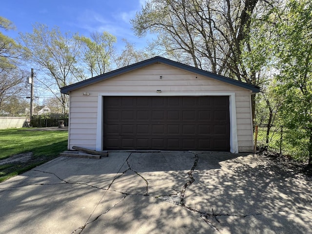
[{"label": "dark blue gabled roof edge trim along the garage top", "polygon": [[148,65],[151,65],[154,63],[163,63],[163,64],[167,64],[167,65],[170,65],[170,66],[173,66],[176,68],[184,69],[186,71],[189,71],[189,72],[201,75],[201,76],[214,78],[216,80],[223,81],[223,82],[226,82],[226,83],[229,83],[232,85],[236,85],[236,86],[241,87],[241,88],[249,89],[254,93],[258,93],[260,91],[260,88],[257,86],[254,86],[254,85],[251,85],[248,83],[244,83],[244,82],[241,82],[238,80],[234,80],[231,78],[223,77],[223,76],[217,75],[215,73],[207,72],[207,71],[204,71],[204,70],[201,70],[201,69],[198,69],[198,68],[180,63],[180,62],[176,62],[176,61],[173,61],[170,59],[165,59],[165,58],[162,58],[159,56],[156,56],[152,59],[147,59],[147,60],[144,60],[141,62],[137,62],[135,64],[132,64],[132,65],[129,65],[126,67],[122,67],[122,68],[119,68],[119,69],[111,71],[111,72],[104,73],[104,74],[99,75],[97,77],[89,78],[89,79],[80,81],[78,83],[62,87],[60,89],[60,91],[62,94],[69,94],[69,92],[72,90],[75,90],[75,89],[96,83],[96,82],[101,81],[101,80],[105,80],[107,78],[112,78],[112,77],[118,76],[120,74],[130,72],[130,71],[133,71],[133,70],[136,70],[138,68],[142,68],[144,66],[148,66]]}]

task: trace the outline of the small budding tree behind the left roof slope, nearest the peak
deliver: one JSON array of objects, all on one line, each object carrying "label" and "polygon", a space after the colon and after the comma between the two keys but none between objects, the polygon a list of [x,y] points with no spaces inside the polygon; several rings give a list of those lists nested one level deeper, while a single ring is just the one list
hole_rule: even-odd
[{"label": "small budding tree behind the left roof slope, nearest the peak", "polygon": [[75,36],[81,43],[80,57],[91,77],[103,74],[109,69],[110,59],[115,53],[117,39],[108,32],[92,33],[91,38]]}]

